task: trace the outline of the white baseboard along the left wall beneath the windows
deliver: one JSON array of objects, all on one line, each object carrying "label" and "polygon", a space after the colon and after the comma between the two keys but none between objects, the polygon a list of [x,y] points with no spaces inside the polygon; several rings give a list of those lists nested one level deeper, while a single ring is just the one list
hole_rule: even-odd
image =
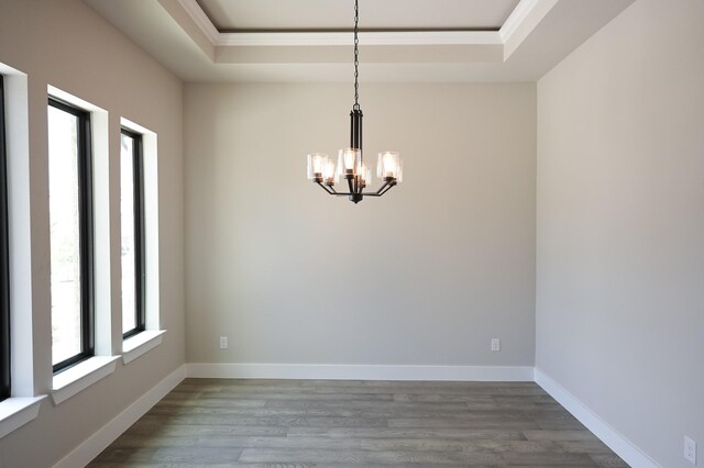
[{"label": "white baseboard along the left wall beneath the windows", "polygon": [[142,417],[161,399],[166,397],[186,377],[186,365],[169,374],[164,380],[129,405],[123,412],[113,417],[97,433],[66,455],[54,468],[85,467],[105,450],[124,431]]}]

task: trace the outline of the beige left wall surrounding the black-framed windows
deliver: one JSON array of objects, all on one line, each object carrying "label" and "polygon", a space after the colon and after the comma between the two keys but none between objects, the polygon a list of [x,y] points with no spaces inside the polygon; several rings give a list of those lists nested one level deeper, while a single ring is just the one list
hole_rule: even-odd
[{"label": "beige left wall surrounding the black-framed windows", "polygon": [[[51,387],[47,85],[109,112],[112,258],[119,259],[120,118],[158,135],[161,317],[164,343],[0,439],[0,466],[47,467],[185,360],[182,82],[78,0],[0,0],[0,63],[28,74],[34,389]],[[120,335],[119,261],[112,266],[113,336]],[[116,302],[118,301],[118,302]],[[119,349],[120,344],[114,344]]]}]

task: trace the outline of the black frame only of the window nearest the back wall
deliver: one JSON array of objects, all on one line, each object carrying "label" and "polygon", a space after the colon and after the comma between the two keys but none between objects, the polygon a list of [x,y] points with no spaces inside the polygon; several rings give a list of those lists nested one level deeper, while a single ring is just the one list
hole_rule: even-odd
[{"label": "black frame only of the window nearest the back wall", "polygon": [[[134,215],[134,313],[135,326],[122,334],[127,339],[146,330],[146,256],[144,230],[144,144],[143,135],[122,127],[122,135],[132,138],[132,196]],[[122,164],[122,160],[120,161]]]}]

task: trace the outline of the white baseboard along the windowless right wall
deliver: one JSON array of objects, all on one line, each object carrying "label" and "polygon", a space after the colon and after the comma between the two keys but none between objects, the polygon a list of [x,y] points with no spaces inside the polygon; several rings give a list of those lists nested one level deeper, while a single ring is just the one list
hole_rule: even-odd
[{"label": "white baseboard along the windowless right wall", "polygon": [[578,400],[564,387],[536,367],[535,380],[544,391],[550,393],[558,403],[564,406],[574,417],[596,435],[604,444],[624,459],[631,467],[661,468],[652,458],[646,455],[623,434],[602,420],[584,403]]}]

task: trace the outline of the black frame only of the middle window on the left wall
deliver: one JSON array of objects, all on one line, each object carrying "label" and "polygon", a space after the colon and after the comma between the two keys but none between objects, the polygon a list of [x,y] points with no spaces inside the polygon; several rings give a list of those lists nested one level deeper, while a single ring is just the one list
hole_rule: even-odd
[{"label": "black frame only of the middle window on the left wall", "polygon": [[[96,355],[95,345],[95,274],[94,274],[94,203],[92,203],[92,145],[90,112],[50,97],[48,105],[77,118],[78,140],[78,220],[80,252],[80,353],[53,365],[58,374]],[[50,175],[51,177],[51,175]]]}]

